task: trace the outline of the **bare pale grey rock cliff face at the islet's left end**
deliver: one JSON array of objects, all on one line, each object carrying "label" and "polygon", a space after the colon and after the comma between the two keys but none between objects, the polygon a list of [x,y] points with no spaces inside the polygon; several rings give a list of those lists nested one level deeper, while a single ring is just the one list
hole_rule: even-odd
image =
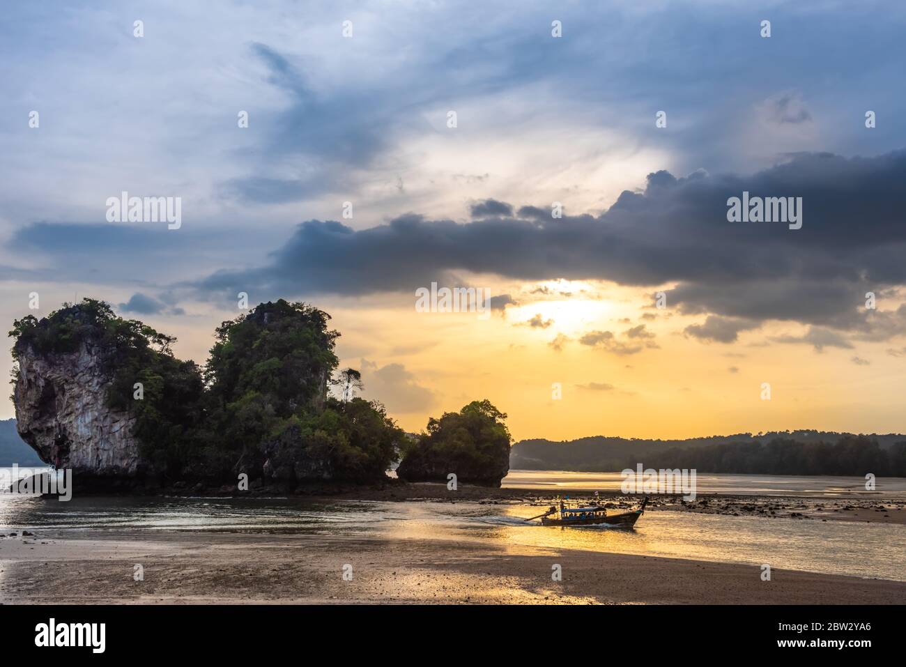
[{"label": "bare pale grey rock cliff face at the islet's left end", "polygon": [[46,463],[73,475],[134,477],[142,467],[135,419],[106,405],[109,372],[100,350],[82,343],[75,353],[19,353],[16,427]]}]

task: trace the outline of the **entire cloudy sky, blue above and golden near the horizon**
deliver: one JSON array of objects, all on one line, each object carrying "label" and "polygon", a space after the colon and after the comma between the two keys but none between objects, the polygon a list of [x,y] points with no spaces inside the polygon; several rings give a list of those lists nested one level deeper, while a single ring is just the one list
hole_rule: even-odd
[{"label": "entire cloudy sky, blue above and golden near the horizon", "polygon": [[[870,1],[5,6],[0,320],[91,296],[203,363],[239,293],[303,300],[412,431],[487,398],[517,440],[904,432],[903,34]],[[110,221],[124,191],[178,228]],[[728,220],[744,192],[802,227]]]}]

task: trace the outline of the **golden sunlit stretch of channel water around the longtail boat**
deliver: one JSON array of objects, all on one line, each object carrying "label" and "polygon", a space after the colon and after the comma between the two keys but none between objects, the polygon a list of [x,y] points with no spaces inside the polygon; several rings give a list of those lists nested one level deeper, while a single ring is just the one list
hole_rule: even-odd
[{"label": "golden sunlit stretch of channel water around the longtail boat", "polygon": [[[382,504],[381,504],[382,505]],[[792,518],[648,511],[634,529],[526,523],[538,507],[518,504],[401,503],[377,527],[382,536],[482,545],[501,555],[565,550],[688,558],[906,581],[906,527]],[[866,548],[866,545],[871,545]],[[455,548],[452,546],[451,548]]]}]

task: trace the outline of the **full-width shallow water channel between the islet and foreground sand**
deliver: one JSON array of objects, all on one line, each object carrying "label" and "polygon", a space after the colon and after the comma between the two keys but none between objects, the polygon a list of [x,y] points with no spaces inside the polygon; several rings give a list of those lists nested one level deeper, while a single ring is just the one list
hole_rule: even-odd
[{"label": "full-width shallow water channel between the islet and foreground sand", "polygon": [[904,526],[672,511],[646,512],[634,530],[525,523],[539,511],[518,503],[0,497],[0,531],[28,529],[48,537],[172,530],[374,536],[448,540],[450,548],[467,540],[523,553],[580,549],[906,581]]}]

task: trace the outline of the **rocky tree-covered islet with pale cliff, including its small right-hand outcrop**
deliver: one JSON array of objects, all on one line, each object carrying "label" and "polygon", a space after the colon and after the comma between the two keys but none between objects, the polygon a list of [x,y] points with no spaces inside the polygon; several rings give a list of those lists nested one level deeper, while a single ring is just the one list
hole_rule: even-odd
[{"label": "rocky tree-covered islet with pale cliff, including its small right-hand outcrop", "polygon": [[258,304],[217,327],[199,366],[102,301],[27,315],[10,332],[16,427],[82,491],[323,491],[390,483],[397,461],[402,480],[500,485],[506,414],[473,401],[406,433],[354,395],[361,375],[338,371],[330,319],[309,304]]}]

